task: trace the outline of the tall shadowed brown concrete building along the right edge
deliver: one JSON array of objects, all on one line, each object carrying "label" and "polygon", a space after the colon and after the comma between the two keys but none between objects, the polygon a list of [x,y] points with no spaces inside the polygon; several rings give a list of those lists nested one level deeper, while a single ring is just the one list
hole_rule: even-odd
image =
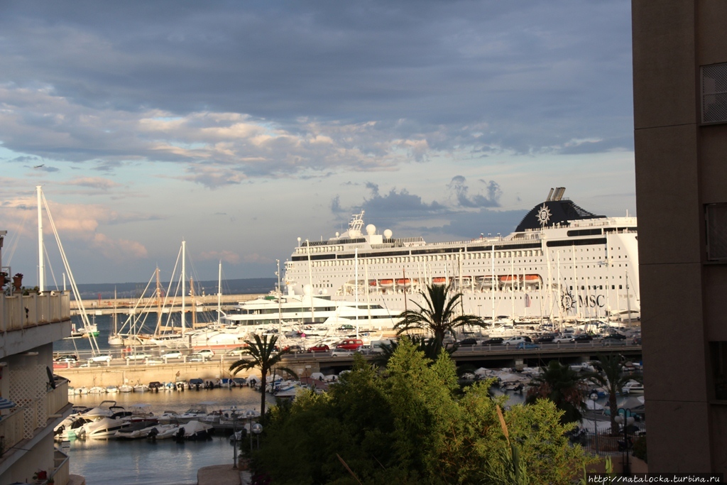
[{"label": "tall shadowed brown concrete building along the right edge", "polygon": [[632,1],[650,472],[727,472],[727,1]]}]

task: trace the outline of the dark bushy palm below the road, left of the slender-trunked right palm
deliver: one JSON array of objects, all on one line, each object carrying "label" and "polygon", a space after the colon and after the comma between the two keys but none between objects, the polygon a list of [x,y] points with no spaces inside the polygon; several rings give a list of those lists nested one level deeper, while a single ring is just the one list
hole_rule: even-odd
[{"label": "dark bushy palm below the road, left of the slender-trunked right palm", "polygon": [[541,370],[540,375],[531,381],[525,402],[532,404],[539,398],[548,399],[565,412],[561,416],[563,424],[580,421],[586,407],[583,401],[586,390],[584,378],[558,361],[550,361]]}]

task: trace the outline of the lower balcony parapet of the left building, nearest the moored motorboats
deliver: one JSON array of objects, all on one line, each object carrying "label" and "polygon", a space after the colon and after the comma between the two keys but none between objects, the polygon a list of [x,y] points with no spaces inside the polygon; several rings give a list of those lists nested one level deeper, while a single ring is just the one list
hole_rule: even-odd
[{"label": "lower balcony parapet of the left building, nearest the moored motorboats", "polygon": [[47,425],[48,417],[59,414],[65,406],[68,406],[68,380],[58,381],[56,388],[45,396],[17,406],[11,414],[3,416],[0,420],[0,460],[20,441],[33,438],[39,428]]}]

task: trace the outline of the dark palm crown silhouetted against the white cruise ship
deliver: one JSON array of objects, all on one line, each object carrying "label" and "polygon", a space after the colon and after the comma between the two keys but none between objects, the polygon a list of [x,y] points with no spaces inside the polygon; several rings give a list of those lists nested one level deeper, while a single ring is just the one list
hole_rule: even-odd
[{"label": "dark palm crown silhouetted against the white cruise ship", "polygon": [[399,315],[401,321],[394,326],[398,334],[410,329],[425,329],[434,334],[434,340],[441,347],[446,332],[465,325],[482,325],[481,319],[474,315],[454,316],[462,293],[452,294],[451,285],[430,284],[426,286],[426,292],[420,291],[419,294],[424,298],[425,306],[409,300],[419,310],[406,310]]}]

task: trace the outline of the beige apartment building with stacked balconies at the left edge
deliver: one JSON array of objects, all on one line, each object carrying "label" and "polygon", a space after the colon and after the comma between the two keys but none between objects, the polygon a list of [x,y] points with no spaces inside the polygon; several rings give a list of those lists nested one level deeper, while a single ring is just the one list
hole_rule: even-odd
[{"label": "beige apartment building with stacked balconies at the left edge", "polygon": [[0,398],[11,403],[0,401],[0,485],[65,485],[68,457],[55,449],[53,429],[71,404],[68,380],[52,374],[52,361],[53,342],[71,335],[70,297],[12,291],[2,265],[6,233],[0,231],[0,273],[11,279],[0,278]]}]

